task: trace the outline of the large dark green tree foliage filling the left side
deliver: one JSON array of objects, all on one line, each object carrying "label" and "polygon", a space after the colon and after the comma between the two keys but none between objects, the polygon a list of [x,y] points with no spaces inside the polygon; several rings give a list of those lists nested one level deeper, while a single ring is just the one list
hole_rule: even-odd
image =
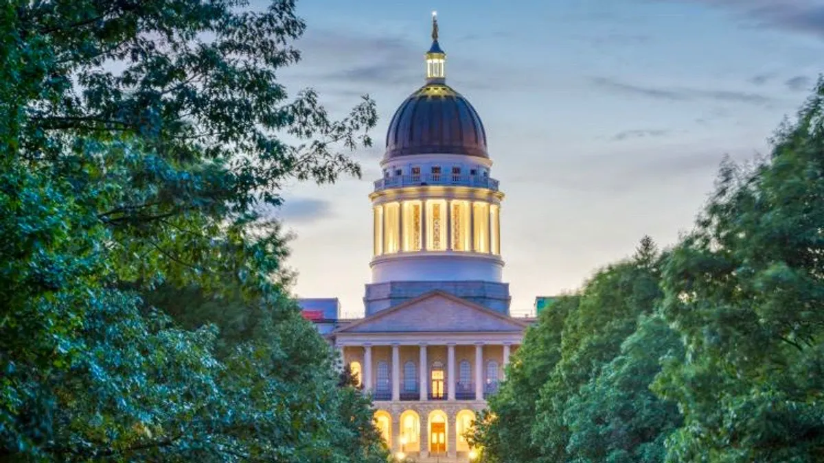
[{"label": "large dark green tree foliage filling the left side", "polygon": [[334,120],[276,81],[304,27],[288,0],[0,6],[0,459],[385,460],[255,212],[371,143],[372,101]]}]

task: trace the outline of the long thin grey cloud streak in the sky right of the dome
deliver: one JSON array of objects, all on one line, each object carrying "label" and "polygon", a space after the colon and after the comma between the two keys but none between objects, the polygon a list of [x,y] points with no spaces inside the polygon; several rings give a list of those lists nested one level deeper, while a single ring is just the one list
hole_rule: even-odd
[{"label": "long thin grey cloud streak in the sky right of the dome", "polygon": [[608,77],[594,77],[592,83],[609,91],[647,96],[658,100],[669,101],[723,101],[728,103],[744,103],[747,105],[768,106],[774,101],[772,98],[757,93],[731,90],[703,90],[687,87],[644,87],[625,82],[619,82]]}]

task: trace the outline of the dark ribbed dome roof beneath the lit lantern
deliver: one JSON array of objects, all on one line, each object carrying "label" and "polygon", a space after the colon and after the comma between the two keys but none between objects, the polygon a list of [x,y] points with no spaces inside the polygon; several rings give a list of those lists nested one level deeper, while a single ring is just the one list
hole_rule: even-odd
[{"label": "dark ribbed dome roof beneath the lit lantern", "polygon": [[386,132],[384,159],[431,153],[489,157],[475,108],[440,82],[419,88],[400,105]]}]

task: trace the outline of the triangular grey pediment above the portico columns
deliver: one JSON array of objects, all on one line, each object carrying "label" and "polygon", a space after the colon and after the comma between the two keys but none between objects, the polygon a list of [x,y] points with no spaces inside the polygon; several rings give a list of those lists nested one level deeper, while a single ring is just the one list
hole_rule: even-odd
[{"label": "triangular grey pediment above the portico columns", "polygon": [[339,333],[508,332],[527,327],[520,320],[447,292],[433,291],[338,330]]}]

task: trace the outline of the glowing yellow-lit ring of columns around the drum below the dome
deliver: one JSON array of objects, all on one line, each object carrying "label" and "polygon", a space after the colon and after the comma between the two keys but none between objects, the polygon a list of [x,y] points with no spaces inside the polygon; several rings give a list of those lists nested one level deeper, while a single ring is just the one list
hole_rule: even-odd
[{"label": "glowing yellow-lit ring of columns around the drum below the dome", "polygon": [[500,255],[500,206],[466,199],[414,199],[377,204],[374,255],[419,250]]}]

